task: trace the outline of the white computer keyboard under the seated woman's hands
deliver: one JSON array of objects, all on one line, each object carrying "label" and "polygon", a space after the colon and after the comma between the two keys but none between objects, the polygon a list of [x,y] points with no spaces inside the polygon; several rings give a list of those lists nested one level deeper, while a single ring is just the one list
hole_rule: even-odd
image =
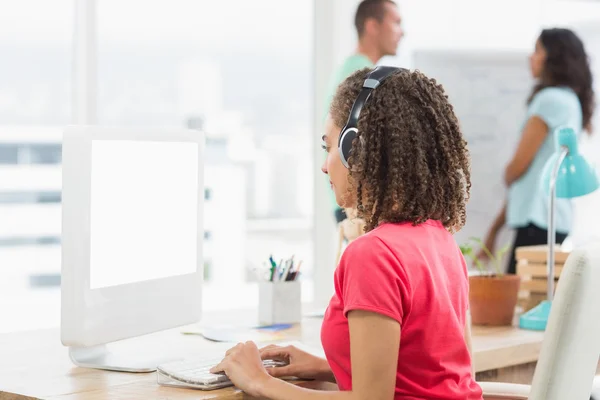
[{"label": "white computer keyboard under the seated woman's hands", "polygon": [[[188,387],[201,390],[221,389],[233,386],[227,375],[212,374],[209,370],[221,362],[222,358],[189,359],[172,361],[157,367],[157,380],[160,385]],[[266,368],[282,367],[285,361],[263,360]]]}]

